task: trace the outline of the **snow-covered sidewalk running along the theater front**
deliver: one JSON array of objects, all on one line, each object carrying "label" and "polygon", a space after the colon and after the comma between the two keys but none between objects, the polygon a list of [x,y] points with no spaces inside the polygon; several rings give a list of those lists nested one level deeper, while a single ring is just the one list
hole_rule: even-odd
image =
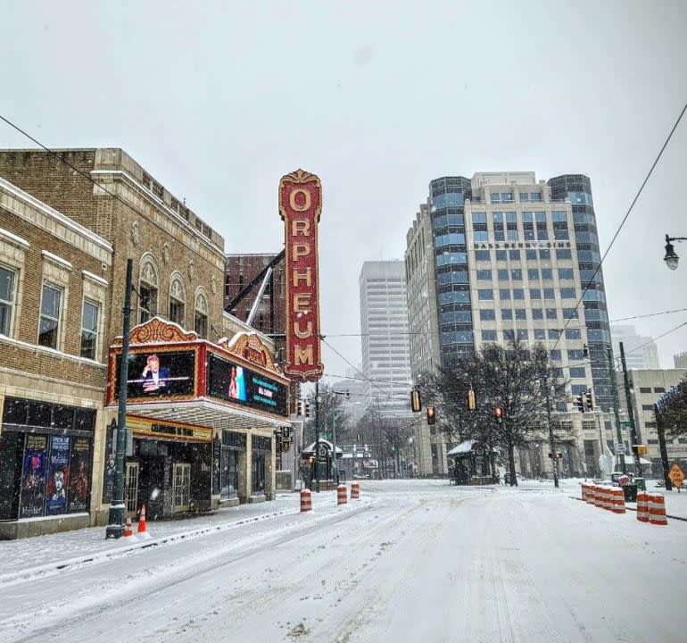
[{"label": "snow-covered sidewalk running along the theater front", "polygon": [[[312,494],[313,509],[335,506],[335,492]],[[83,564],[142,547],[178,539],[199,538],[204,534],[240,527],[246,522],[266,521],[280,515],[298,514],[298,493],[277,494],[277,498],[258,505],[238,505],[172,521],[149,521],[151,539],[139,541],[106,540],[104,527],[37,536],[31,539],[0,540],[0,585],[25,576],[40,576],[75,564]],[[136,522],[134,523],[136,534]]]}]

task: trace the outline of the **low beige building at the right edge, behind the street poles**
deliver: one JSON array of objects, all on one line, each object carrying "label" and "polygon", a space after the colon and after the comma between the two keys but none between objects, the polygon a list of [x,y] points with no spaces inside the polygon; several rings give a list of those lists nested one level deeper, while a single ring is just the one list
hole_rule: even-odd
[{"label": "low beige building at the right edge, behind the street poles", "polygon": [[[627,402],[625,397],[625,382],[623,373],[617,374],[617,387],[620,399],[621,413],[627,413]],[[656,416],[654,415],[654,405],[658,397],[661,397],[668,388],[675,386],[683,380],[685,372],[680,369],[629,371],[628,379],[632,391],[632,403],[634,421],[636,422],[637,438],[640,444],[649,447],[649,453],[643,457],[652,463],[652,474],[661,476],[661,455],[658,451],[658,434],[656,432]],[[630,446],[632,438],[629,430],[624,430],[623,439],[625,441],[625,451],[629,454],[626,458],[628,463],[632,461]],[[687,465],[687,438],[668,440],[668,461],[678,462],[681,467]]]}]

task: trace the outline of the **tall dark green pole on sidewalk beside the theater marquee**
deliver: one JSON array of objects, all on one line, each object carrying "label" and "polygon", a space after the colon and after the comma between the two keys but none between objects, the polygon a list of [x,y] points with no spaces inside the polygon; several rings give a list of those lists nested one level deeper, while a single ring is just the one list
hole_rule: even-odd
[{"label": "tall dark green pole on sidewalk beside the theater marquee", "polygon": [[117,450],[115,455],[114,489],[105,530],[106,539],[118,539],[124,533],[126,507],[124,506],[124,456],[127,451],[127,380],[128,380],[128,333],[131,326],[131,284],[134,263],[127,259],[127,282],[124,293],[124,323],[121,338],[120,403],[117,412]]}]

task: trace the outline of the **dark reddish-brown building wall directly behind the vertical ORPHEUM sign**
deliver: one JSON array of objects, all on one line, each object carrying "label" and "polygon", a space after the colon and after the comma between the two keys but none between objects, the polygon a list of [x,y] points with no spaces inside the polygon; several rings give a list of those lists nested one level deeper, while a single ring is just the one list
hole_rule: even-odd
[{"label": "dark reddish-brown building wall directly behind the vertical ORPHEUM sign", "polygon": [[[224,278],[225,305],[228,305],[275,256],[261,254],[227,255],[227,269]],[[274,288],[274,292],[272,292],[270,286]],[[236,306],[233,314],[241,321],[248,319],[260,287],[260,282],[256,283],[251,292]],[[283,335],[286,330],[285,297],[284,263],[282,262],[277,263],[274,268],[271,279],[268,281],[261,301],[258,304],[258,309],[252,319],[252,327],[269,335]],[[274,323],[272,324],[271,321],[274,321]]]}]

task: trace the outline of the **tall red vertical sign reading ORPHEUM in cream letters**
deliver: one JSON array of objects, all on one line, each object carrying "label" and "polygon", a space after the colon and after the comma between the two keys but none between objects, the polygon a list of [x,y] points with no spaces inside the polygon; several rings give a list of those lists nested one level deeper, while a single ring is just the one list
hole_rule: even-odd
[{"label": "tall red vertical sign reading ORPHEUM in cream letters", "polygon": [[322,186],[296,170],[279,181],[286,257],[286,366],[291,380],[317,381],[324,366],[319,346],[318,223]]}]

